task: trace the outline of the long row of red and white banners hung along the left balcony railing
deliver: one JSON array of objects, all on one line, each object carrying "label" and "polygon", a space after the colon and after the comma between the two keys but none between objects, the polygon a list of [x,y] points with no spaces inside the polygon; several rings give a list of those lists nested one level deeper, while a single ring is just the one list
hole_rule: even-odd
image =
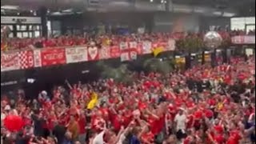
[{"label": "long row of red and white banners hung along the left balcony railing", "polygon": [[175,40],[167,42],[120,42],[117,46],[54,47],[1,53],[1,72],[30,68],[65,65],[76,62],[120,58],[122,62],[136,59],[138,55],[150,54],[162,47],[162,51],[175,50]]}]

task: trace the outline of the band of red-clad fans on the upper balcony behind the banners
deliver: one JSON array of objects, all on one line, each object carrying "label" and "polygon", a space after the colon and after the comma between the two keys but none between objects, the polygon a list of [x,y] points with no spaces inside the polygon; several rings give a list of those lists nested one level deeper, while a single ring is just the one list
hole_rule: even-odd
[{"label": "band of red-clad fans on the upper balcony behind the banners", "polygon": [[[218,31],[223,39],[230,38],[234,35],[245,35],[242,30],[234,30],[231,32]],[[251,30],[248,34],[255,34],[255,30]],[[166,34],[130,34],[130,35],[114,35],[105,34],[100,36],[58,36],[55,38],[1,38],[1,50],[22,50],[25,48],[42,48],[42,47],[62,47],[62,46],[81,46],[92,41],[96,41],[98,45],[117,44],[121,41],[143,41],[155,39],[165,41],[168,38],[185,38],[187,35],[203,38],[203,33],[187,34],[187,33],[166,33]]]}]

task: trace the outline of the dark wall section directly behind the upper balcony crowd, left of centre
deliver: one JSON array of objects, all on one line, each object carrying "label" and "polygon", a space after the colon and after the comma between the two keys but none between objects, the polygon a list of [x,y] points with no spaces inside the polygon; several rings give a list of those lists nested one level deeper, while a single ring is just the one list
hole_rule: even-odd
[{"label": "dark wall section directly behind the upper balcony crowd, left of centre", "polygon": [[50,17],[51,21],[60,21],[62,34],[66,30],[73,28],[83,31],[86,26],[128,26],[130,30],[137,30],[140,26],[145,26],[146,30],[152,29],[153,14],[135,12],[112,12],[112,13],[85,13],[67,16]]}]

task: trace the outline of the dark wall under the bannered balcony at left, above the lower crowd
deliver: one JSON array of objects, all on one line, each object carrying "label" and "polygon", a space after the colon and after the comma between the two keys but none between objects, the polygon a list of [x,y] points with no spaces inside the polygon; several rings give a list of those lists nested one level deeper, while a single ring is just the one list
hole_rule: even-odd
[{"label": "dark wall under the bannered balcony at left, above the lower crowd", "polygon": [[[94,62],[83,62],[65,66],[50,66],[31,70],[15,70],[1,73],[1,83],[16,81],[11,86],[1,86],[1,94],[10,90],[23,89],[28,97],[34,97],[42,90],[50,91],[54,86],[63,85],[65,80],[73,82],[90,82],[99,77],[100,71],[95,67]],[[90,70],[82,74],[82,71]],[[27,78],[34,78],[36,81],[31,84],[26,82]]]}]

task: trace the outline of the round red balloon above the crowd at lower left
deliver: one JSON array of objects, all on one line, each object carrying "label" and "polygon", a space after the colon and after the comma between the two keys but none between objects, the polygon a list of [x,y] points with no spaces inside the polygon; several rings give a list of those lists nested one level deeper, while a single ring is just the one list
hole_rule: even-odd
[{"label": "round red balloon above the crowd at lower left", "polygon": [[17,115],[8,115],[3,120],[3,124],[6,129],[10,130],[11,132],[18,132],[19,130],[22,130],[22,127],[24,126],[22,117]]}]

